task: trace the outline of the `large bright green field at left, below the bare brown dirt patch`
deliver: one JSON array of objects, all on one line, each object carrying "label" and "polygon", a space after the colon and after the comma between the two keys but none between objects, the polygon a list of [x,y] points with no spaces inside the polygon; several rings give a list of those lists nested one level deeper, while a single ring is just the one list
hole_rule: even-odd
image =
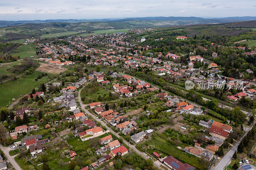
[{"label": "large bright green field at left, below the bare brown dirt patch", "polygon": [[12,103],[12,98],[19,98],[20,94],[30,92],[31,88],[38,87],[40,83],[48,82],[48,78],[46,79],[46,77],[35,81],[34,79],[37,78],[39,74],[41,74],[41,72],[34,71],[33,74],[27,75],[26,78],[19,78],[15,81],[8,81],[0,84],[0,107],[6,107],[6,105],[9,105],[9,101]]}]

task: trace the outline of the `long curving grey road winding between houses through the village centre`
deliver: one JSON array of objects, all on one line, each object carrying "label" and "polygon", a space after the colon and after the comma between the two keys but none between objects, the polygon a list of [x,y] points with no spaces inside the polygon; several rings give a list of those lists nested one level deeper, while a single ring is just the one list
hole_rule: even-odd
[{"label": "long curving grey road winding between houses through the village centre", "polygon": [[[114,132],[111,128],[109,128],[106,124],[106,122],[102,121],[101,119],[97,119],[95,115],[93,115],[91,112],[89,112],[86,107],[87,105],[85,105],[82,100],[81,100],[81,96],[80,96],[80,92],[83,88],[81,88],[78,92],[78,100],[79,100],[79,103],[81,105],[81,108],[82,110],[85,111],[86,114],[90,115],[93,117],[93,119],[95,119],[96,121],[100,122],[101,125],[105,126],[111,133],[113,133],[114,135],[116,135],[116,137],[120,138],[120,136],[118,135],[118,133]],[[123,142],[129,146],[130,148],[133,149],[133,151],[137,152],[138,154],[140,154],[143,158],[145,159],[149,159],[144,153],[140,152],[136,147],[135,145],[132,145],[132,144],[129,144],[126,140],[123,139]],[[154,166],[158,167],[159,169],[163,169],[161,166],[157,165],[155,162],[154,162]]]}]

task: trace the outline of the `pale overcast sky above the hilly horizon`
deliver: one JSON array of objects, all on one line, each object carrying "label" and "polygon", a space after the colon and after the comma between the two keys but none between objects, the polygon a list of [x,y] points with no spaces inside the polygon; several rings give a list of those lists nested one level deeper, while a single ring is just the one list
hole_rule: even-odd
[{"label": "pale overcast sky above the hilly horizon", "polygon": [[0,0],[0,20],[256,16],[255,0]]}]

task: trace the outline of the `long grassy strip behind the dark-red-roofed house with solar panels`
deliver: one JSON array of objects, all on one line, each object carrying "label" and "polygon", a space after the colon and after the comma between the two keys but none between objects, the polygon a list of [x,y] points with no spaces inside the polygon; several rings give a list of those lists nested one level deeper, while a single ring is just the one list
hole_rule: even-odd
[{"label": "long grassy strip behind the dark-red-roofed house with solar panels", "polygon": [[[172,155],[173,157],[178,158],[180,160],[184,160],[192,166],[196,166],[200,169],[205,169],[205,167],[200,163],[199,158],[197,158],[196,156],[191,155],[189,153],[183,152],[179,149],[176,149],[175,146],[173,146],[173,145],[169,145],[169,144],[160,142],[156,139],[153,139],[148,144],[158,146],[160,148],[160,151],[168,153],[168,154]],[[148,150],[148,152],[152,153],[150,150]]]}]

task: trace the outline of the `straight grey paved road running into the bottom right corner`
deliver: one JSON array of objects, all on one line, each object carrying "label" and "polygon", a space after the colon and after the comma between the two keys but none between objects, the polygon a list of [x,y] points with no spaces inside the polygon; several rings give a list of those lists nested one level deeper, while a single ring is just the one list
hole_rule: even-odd
[{"label": "straight grey paved road running into the bottom right corner", "polygon": [[[254,123],[255,124],[255,123]],[[254,125],[253,124],[253,125]],[[252,127],[253,127],[252,125]],[[252,127],[249,129],[251,130]],[[248,131],[249,131],[248,130]],[[248,132],[247,131],[247,132]],[[244,136],[247,134],[247,132],[244,134]],[[243,136],[243,137],[244,137]],[[223,170],[226,165],[228,164],[229,160],[232,158],[233,154],[237,151],[237,147],[240,144],[241,140],[243,139],[243,137],[241,137],[241,139],[228,151],[228,153],[220,160],[220,162],[217,164],[217,166],[214,168],[214,170]]]}]

